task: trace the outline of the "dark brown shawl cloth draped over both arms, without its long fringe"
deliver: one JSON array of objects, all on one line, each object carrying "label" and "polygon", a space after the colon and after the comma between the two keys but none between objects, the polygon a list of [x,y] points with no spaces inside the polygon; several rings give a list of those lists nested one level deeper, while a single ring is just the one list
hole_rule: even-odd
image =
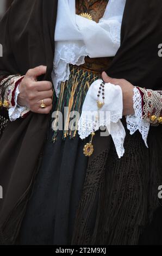
[{"label": "dark brown shawl cloth draped over both arms, without its long fringe", "polygon": [[[56,15],[55,0],[14,1],[0,22],[0,44],[3,45],[0,78],[6,74],[24,75],[30,68],[47,65],[47,74],[40,79],[51,80]],[[126,1],[121,47],[107,71],[109,76],[125,78],[135,86],[161,88],[162,58],[158,57],[161,22],[161,0]],[[0,141],[0,184],[4,196],[0,201],[2,244],[13,244],[17,237],[47,126],[47,115],[30,113],[25,119],[9,122],[4,130]],[[153,135],[155,138],[155,132]],[[161,144],[155,149],[160,154]],[[154,161],[158,163],[158,155]]]}]

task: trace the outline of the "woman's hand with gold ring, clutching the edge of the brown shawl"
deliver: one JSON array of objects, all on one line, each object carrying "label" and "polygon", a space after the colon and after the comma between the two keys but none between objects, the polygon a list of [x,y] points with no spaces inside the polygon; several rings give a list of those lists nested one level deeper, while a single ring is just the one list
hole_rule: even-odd
[{"label": "woman's hand with gold ring, clutching the edge of the brown shawl", "polygon": [[[46,74],[46,70],[46,66],[29,69],[18,87],[20,94],[17,103],[21,106],[27,106],[34,113],[48,114],[52,109],[52,83],[37,81],[37,77]],[[46,108],[40,108],[42,100],[47,106]]]}]

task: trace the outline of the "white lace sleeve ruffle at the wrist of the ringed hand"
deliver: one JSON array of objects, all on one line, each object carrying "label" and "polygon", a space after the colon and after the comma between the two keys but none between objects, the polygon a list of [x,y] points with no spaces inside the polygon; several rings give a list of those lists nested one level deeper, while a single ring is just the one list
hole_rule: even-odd
[{"label": "white lace sleeve ruffle at the wrist of the ringed hand", "polygon": [[19,93],[20,92],[19,92],[18,86],[17,86],[16,91],[15,91],[15,106],[9,108],[9,119],[10,119],[10,121],[15,121],[17,118],[22,117],[22,114],[24,112],[26,112],[26,113],[29,112],[29,109],[26,106],[19,106],[17,104],[17,97],[18,97]]}]

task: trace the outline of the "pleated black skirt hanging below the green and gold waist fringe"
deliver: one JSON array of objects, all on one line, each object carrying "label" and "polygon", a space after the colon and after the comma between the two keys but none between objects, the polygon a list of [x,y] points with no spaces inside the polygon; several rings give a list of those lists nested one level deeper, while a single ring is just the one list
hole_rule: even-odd
[{"label": "pleated black skirt hanging below the green and gold waist fringe", "polygon": [[22,245],[68,245],[83,190],[88,159],[78,137],[52,143],[49,131],[43,159],[24,217]]}]

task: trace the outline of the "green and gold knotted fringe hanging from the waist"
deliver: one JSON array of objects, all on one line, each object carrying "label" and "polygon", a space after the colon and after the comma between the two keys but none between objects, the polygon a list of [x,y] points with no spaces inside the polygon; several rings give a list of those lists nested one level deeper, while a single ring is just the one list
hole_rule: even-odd
[{"label": "green and gold knotted fringe hanging from the waist", "polygon": [[[98,78],[99,75],[96,75],[91,71],[86,71],[72,65],[70,66],[70,77],[68,81],[61,82],[60,96],[57,103],[54,104],[54,106],[56,106],[55,111],[57,112],[56,117],[58,117],[58,113],[61,112],[65,119],[65,122],[63,122],[63,139],[67,137],[70,137],[70,139],[76,137],[77,125],[76,129],[74,129],[72,124],[70,124],[70,113],[73,112],[74,114],[74,111],[77,111],[79,114],[81,114],[83,102],[90,84]],[[64,112],[65,107],[68,107],[68,113],[66,115]],[[55,142],[57,139],[58,130],[54,127],[58,125],[58,121],[58,118],[53,119],[53,142]],[[78,119],[76,117],[76,124],[77,123]]]}]

